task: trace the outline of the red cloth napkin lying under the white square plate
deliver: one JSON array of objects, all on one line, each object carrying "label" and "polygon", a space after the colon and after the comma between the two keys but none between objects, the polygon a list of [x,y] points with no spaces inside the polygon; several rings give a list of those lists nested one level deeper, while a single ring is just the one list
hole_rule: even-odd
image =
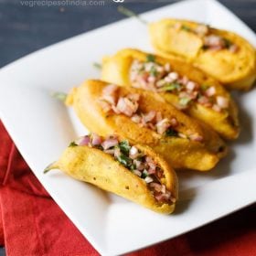
[{"label": "red cloth napkin lying under the white square plate", "polygon": [[[2,123],[0,138],[0,244],[5,246],[7,255],[99,255],[48,196]],[[255,207],[245,208],[201,229],[128,255],[255,256],[255,216]]]}]

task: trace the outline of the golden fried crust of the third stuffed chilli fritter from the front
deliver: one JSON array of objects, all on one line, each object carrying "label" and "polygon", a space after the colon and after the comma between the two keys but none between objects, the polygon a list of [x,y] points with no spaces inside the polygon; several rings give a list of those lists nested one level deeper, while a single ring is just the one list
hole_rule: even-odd
[{"label": "golden fried crust of the third stuffed chilli fritter from the front", "polygon": [[[120,84],[123,86],[132,86],[129,78],[129,70],[133,59],[145,61],[148,53],[125,48],[120,50],[112,57],[105,57],[102,61],[101,79],[108,82]],[[240,133],[240,125],[238,119],[238,108],[232,100],[228,91],[226,91],[217,80],[210,78],[197,68],[190,64],[177,59],[165,59],[155,56],[155,61],[165,65],[170,63],[173,70],[181,75],[187,76],[189,80],[197,81],[198,84],[207,84],[215,87],[217,94],[229,99],[229,109],[225,112],[215,112],[211,108],[207,108],[197,102],[190,104],[187,109],[187,114],[208,123],[216,132],[225,139],[236,139]],[[159,93],[165,101],[176,106],[178,97],[171,92]],[[214,122],[212,122],[214,120]]]}]

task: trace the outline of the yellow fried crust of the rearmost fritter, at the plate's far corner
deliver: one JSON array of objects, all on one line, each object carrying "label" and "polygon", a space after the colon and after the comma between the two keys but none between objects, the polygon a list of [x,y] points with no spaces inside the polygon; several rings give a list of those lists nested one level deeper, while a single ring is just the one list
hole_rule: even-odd
[{"label": "yellow fried crust of the rearmost fritter, at the plate's far corner", "polygon": [[193,29],[198,26],[196,22],[171,18],[150,24],[151,42],[158,54],[193,63],[229,89],[251,89],[256,79],[256,53],[247,40],[230,31],[210,28],[210,32],[233,42],[239,50],[235,53],[228,49],[203,50],[201,37],[184,29],[176,29],[177,22]]}]

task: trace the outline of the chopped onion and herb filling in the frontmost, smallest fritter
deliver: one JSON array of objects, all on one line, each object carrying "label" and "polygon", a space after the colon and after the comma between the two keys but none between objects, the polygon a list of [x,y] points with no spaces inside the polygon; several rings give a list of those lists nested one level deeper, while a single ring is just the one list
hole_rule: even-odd
[{"label": "chopped onion and herb filling in the frontmost, smallest fritter", "polygon": [[157,202],[176,202],[176,198],[172,197],[171,192],[162,184],[162,179],[165,179],[164,171],[152,157],[145,155],[137,147],[130,145],[128,141],[120,141],[115,135],[103,138],[96,133],[91,133],[70,146],[78,144],[94,147],[112,155],[116,161],[144,180]]}]

